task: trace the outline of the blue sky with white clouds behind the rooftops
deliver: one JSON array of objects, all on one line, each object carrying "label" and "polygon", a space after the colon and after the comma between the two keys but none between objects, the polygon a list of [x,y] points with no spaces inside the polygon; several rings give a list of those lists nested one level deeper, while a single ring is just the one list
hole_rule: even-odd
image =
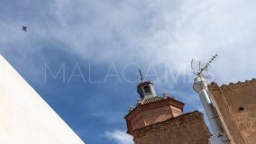
[{"label": "blue sky with white clouds behind the rooftops", "polygon": [[209,81],[219,84],[256,76],[251,0],[0,2],[1,54],[87,144],[131,143],[123,116],[139,67],[186,112],[202,110],[191,58],[218,53]]}]

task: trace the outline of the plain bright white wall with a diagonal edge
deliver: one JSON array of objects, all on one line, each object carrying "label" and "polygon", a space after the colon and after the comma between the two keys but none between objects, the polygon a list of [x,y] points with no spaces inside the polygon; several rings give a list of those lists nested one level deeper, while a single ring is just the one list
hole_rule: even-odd
[{"label": "plain bright white wall with a diagonal edge", "polygon": [[0,56],[0,144],[83,144]]}]

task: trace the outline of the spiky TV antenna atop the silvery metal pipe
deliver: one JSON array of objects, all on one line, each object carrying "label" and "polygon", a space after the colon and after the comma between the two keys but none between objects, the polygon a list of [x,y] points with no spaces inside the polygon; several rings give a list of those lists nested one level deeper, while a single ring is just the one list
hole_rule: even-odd
[{"label": "spiky TV antenna atop the silvery metal pipe", "polygon": [[191,68],[194,74],[199,77],[210,78],[211,76],[208,74],[208,67],[215,61],[217,57],[218,55],[215,54],[207,63],[203,63],[192,58]]}]

